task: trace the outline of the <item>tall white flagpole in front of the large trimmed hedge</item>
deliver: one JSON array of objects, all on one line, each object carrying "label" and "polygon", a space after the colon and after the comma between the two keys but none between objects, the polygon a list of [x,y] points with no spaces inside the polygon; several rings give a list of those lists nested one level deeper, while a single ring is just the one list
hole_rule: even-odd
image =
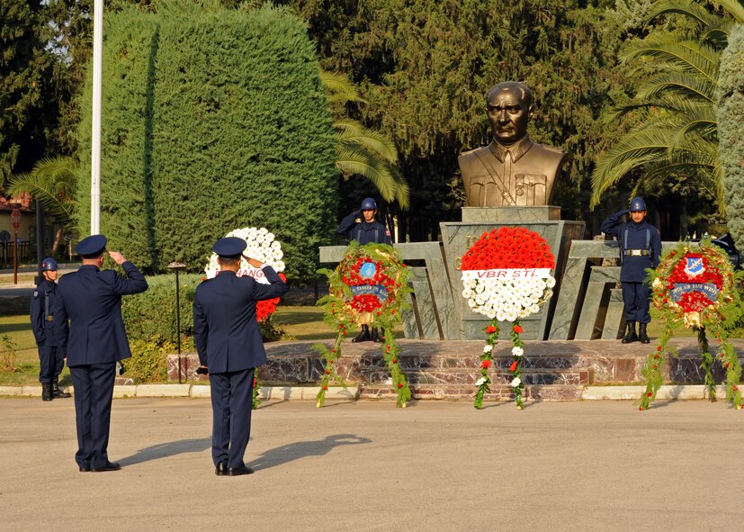
[{"label": "tall white flagpole in front of the large trimmed hedge", "polygon": [[91,234],[101,232],[101,86],[103,77],[103,0],[93,7],[93,131],[91,132]]}]

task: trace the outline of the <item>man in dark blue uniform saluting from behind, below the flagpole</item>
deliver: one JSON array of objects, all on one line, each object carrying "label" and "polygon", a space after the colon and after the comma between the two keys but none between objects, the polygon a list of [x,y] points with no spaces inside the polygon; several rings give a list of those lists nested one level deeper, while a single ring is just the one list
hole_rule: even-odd
[{"label": "man in dark blue uniform saluting from behind, below the flagpole", "polygon": [[[82,239],[75,251],[83,266],[59,279],[54,305],[57,340],[75,388],[75,421],[80,471],[116,471],[109,461],[109,428],[116,363],[131,356],[121,319],[121,296],[145,292],[148,282],[137,266],[118,251],[109,257],[124,269],[127,278],[103,270],[106,237]],[[67,323],[69,320],[69,324]]]}]

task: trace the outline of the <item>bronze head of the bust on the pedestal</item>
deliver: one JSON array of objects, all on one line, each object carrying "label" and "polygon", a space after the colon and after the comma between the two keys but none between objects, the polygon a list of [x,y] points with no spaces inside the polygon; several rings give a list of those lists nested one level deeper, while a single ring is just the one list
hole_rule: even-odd
[{"label": "bronze head of the bust on the pedestal", "polygon": [[505,81],[491,87],[487,110],[494,139],[508,146],[527,134],[533,95],[524,84]]}]

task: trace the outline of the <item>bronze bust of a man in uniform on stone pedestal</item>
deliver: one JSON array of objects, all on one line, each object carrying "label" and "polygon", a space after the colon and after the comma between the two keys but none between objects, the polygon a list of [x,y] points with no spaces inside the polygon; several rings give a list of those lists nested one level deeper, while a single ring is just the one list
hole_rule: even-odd
[{"label": "bronze bust of a man in uniform on stone pedestal", "polygon": [[524,84],[506,81],[489,91],[494,139],[457,159],[469,207],[551,203],[553,184],[566,154],[530,140],[527,123],[532,112],[533,95]]}]

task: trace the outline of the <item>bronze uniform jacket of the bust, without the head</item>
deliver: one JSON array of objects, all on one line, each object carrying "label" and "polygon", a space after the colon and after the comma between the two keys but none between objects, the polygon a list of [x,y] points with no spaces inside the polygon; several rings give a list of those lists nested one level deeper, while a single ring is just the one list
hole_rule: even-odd
[{"label": "bronze uniform jacket of the bust, without the head", "polygon": [[566,154],[525,135],[507,150],[492,141],[457,159],[470,207],[549,205]]}]

